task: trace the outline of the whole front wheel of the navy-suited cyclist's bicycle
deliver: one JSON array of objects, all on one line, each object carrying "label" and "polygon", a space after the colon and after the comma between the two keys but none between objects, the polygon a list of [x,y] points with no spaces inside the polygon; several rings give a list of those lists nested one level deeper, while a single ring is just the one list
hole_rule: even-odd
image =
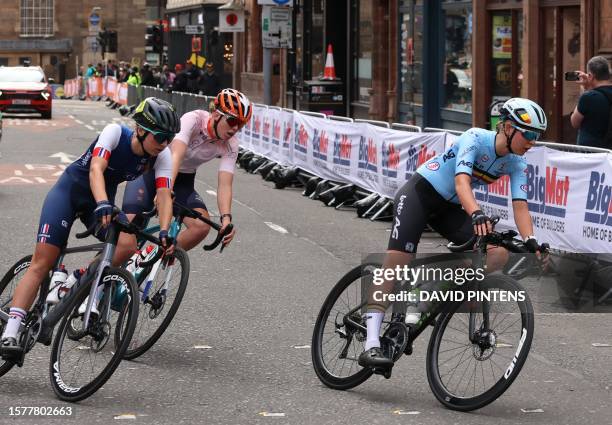
[{"label": "whole front wheel of the navy-suited cyclist's bicycle", "polygon": [[[78,310],[89,293],[83,290],[68,306],[69,313],[62,319],[55,335],[49,369],[53,391],[61,400],[83,400],[104,385],[119,366],[134,333],[138,317],[138,290],[134,277],[123,269],[108,267],[101,282],[103,286],[100,289],[104,288],[104,295],[99,303],[99,317],[92,315],[88,328],[83,328],[83,315]],[[117,291],[125,291],[123,304],[119,307],[115,305]],[[112,303],[107,302],[109,297]],[[120,311],[125,311],[122,337],[115,346],[108,342],[120,326]]]}]

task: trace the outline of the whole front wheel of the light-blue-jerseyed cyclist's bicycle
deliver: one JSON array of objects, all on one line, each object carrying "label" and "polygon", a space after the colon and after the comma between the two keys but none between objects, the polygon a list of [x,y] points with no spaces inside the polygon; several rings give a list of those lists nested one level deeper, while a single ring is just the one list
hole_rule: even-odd
[{"label": "whole front wheel of the light-blue-jerseyed cyclist's bicycle", "polygon": [[473,303],[471,310],[468,301],[456,302],[438,318],[427,349],[427,379],[438,401],[453,410],[480,409],[500,397],[520,373],[533,339],[533,306],[518,282],[492,275],[478,290],[520,298]]}]

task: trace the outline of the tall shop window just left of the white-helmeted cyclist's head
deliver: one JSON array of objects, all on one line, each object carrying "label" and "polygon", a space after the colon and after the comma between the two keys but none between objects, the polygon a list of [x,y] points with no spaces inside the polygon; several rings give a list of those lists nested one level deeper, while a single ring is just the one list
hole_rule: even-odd
[{"label": "tall shop window just left of the white-helmeted cyclist's head", "polygon": [[472,111],[472,5],[471,2],[442,4],[444,40],[445,108]]}]

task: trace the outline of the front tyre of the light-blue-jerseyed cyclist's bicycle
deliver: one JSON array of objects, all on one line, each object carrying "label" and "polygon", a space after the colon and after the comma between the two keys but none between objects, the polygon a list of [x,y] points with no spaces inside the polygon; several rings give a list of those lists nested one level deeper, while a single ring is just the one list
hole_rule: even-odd
[{"label": "front tyre of the light-blue-jerseyed cyclist's bicycle", "polygon": [[[438,318],[429,340],[429,346],[427,349],[427,380],[429,381],[429,386],[438,401],[452,410],[467,412],[480,409],[499,398],[510,387],[510,385],[512,385],[512,382],[519,375],[525,361],[527,360],[527,356],[531,348],[534,328],[534,312],[531,300],[529,299],[529,296],[524,288],[518,282],[516,282],[516,280],[504,275],[487,276],[482,284],[485,284],[487,288],[497,288],[507,291],[523,291],[525,295],[524,301],[517,301],[521,316],[520,319],[517,319],[517,322],[518,320],[521,320],[522,331],[520,340],[523,340],[524,338],[524,341],[521,344],[519,340],[516,351],[512,352],[512,361],[506,368],[505,374],[502,375],[493,386],[482,394],[474,397],[458,397],[442,382],[438,366],[438,352],[444,331],[447,329],[447,325],[449,324],[449,321],[453,315],[462,305],[462,303],[459,302],[450,304],[449,309],[443,312]],[[477,363],[475,363],[474,366],[475,370],[476,364]],[[500,370],[503,371],[501,368]],[[471,381],[468,381],[468,384],[469,382]],[[476,378],[474,378],[474,385],[476,385]]]}]

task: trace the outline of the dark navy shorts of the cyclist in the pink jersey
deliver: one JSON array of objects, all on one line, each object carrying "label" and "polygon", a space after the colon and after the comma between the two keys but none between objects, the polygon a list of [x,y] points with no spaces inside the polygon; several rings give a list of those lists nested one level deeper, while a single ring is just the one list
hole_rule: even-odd
[{"label": "dark navy shorts of the cyclist in the pink jersey", "polygon": [[[178,173],[174,182],[174,196],[179,204],[188,208],[202,208],[208,211],[206,204],[194,188],[195,173]],[[153,209],[155,199],[155,173],[153,171],[143,174],[136,180],[128,182],[123,194],[122,210],[126,214],[138,214]],[[176,211],[175,211],[176,213]]]}]

